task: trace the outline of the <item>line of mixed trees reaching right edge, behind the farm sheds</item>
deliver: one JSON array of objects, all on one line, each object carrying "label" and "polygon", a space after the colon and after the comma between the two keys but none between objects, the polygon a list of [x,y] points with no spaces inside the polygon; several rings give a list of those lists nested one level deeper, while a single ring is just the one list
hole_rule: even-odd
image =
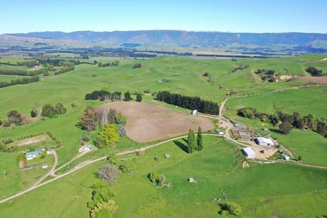
[{"label": "line of mixed trees reaching right edge, behind the farm sheds", "polygon": [[269,122],[274,126],[278,125],[279,130],[285,135],[289,134],[294,127],[298,129],[312,129],[322,136],[327,136],[327,119],[318,119],[312,114],[308,114],[304,117],[301,117],[297,112],[293,114],[285,114],[282,112],[277,112],[277,114],[265,114],[257,112],[254,108],[246,107],[239,109],[237,115],[250,119],[259,119],[263,122]]}]

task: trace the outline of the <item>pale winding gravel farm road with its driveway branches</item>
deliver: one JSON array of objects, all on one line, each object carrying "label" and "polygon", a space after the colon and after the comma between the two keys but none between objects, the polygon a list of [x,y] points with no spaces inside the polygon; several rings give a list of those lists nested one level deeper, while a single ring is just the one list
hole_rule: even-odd
[{"label": "pale winding gravel farm road with its driveway branches", "polygon": [[[299,88],[306,88],[306,87],[311,87],[311,86],[318,86],[318,85],[301,85],[301,86],[296,86],[296,87],[291,87],[291,88],[284,88],[284,89],[279,89],[279,90],[275,90],[275,91],[272,91],[272,92],[267,92],[267,93],[261,93],[261,94],[255,94],[255,95],[251,95],[251,96],[259,96],[259,95],[267,95],[267,94],[272,94],[272,93],[275,93],[275,92],[280,92],[280,91],[283,91],[283,90],[290,90],[290,89],[299,89]],[[220,136],[220,135],[216,135],[216,134],[203,134],[204,136],[217,136],[217,137],[224,137],[232,142],[235,142],[237,144],[240,144],[240,145],[243,145],[243,146],[247,146],[246,144],[243,144],[239,141],[236,141],[234,139],[232,139],[229,135],[229,130],[233,127],[233,124],[225,117],[223,117],[222,115],[222,112],[224,110],[224,107],[226,105],[226,102],[231,99],[231,98],[242,98],[242,97],[248,97],[248,96],[233,96],[233,97],[229,97],[229,98],[226,98],[222,103],[221,103],[221,106],[220,106],[220,111],[219,111],[219,116],[217,117],[217,119],[219,120],[220,122],[220,125],[223,126],[224,128],[226,128],[226,131],[225,131],[225,135],[224,136]],[[216,118],[216,117],[215,117]],[[133,152],[137,152],[137,151],[144,151],[144,150],[147,150],[149,148],[152,148],[152,147],[156,147],[156,146],[159,146],[159,145],[162,145],[166,142],[169,142],[169,141],[173,141],[173,140],[177,140],[177,139],[181,139],[181,138],[185,138],[187,137],[187,135],[185,136],[180,136],[180,137],[176,137],[176,138],[172,138],[172,139],[168,139],[168,140],[165,140],[165,141],[162,141],[162,142],[159,142],[157,144],[154,144],[154,145],[149,145],[149,146],[146,146],[146,147],[143,147],[143,148],[138,148],[138,149],[134,149],[134,150],[126,150],[126,151],[122,151],[122,152],[119,152],[117,153],[116,155],[117,156],[121,156],[121,155],[127,155],[127,154],[132,154]],[[101,160],[104,160],[106,159],[108,156],[104,156],[104,157],[101,157],[101,158],[98,158],[98,159],[95,159],[95,160],[91,160],[89,162],[85,162],[84,164],[82,165],[79,165],[79,166],[76,166],[75,168],[71,169],[70,171],[68,172],[65,172],[65,173],[62,173],[61,175],[55,175],[55,172],[59,169],[61,169],[62,167],[66,166],[67,164],[71,163],[72,161],[76,160],[77,158],[79,158],[80,156],[82,156],[83,154],[81,155],[78,155],[76,156],[74,159],[70,160],[69,162],[67,162],[66,164],[60,166],[59,168],[55,169],[57,163],[58,163],[58,158],[57,158],[57,154],[54,150],[51,151],[52,154],[54,155],[55,157],[55,164],[53,165],[53,167],[51,168],[51,170],[46,173],[45,176],[43,176],[40,180],[38,180],[33,186],[31,186],[30,188],[27,188],[25,189],[24,191],[21,191],[19,193],[16,193],[14,195],[12,195],[11,197],[8,197],[6,199],[3,199],[0,201],[0,204],[6,202],[6,201],[9,201],[11,199],[14,199],[20,195],[23,195],[27,192],[30,192],[38,187],[41,187],[41,186],[44,186],[48,183],[51,183],[53,181],[56,181],[62,177],[65,177],[67,175],[70,175],[72,172],[75,172],[76,170],[79,170],[85,166],[88,166],[90,164],[93,164],[93,163],[96,163],[98,161],[101,161]],[[321,169],[327,169],[327,167],[325,166],[316,166],[316,165],[310,165],[310,164],[303,164],[303,163],[300,163],[300,162],[295,162],[297,165],[300,165],[300,166],[307,166],[307,167],[314,167],[314,168],[321,168]],[[41,183],[44,179],[46,179],[48,176],[53,176],[54,178],[53,179],[50,179],[46,182],[43,182]]]}]

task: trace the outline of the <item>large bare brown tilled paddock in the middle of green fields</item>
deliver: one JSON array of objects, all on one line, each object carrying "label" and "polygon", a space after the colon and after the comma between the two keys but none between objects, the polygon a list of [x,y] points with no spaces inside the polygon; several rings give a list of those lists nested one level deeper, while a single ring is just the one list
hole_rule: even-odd
[{"label": "large bare brown tilled paddock in the middle of green fields", "polygon": [[126,116],[127,136],[137,142],[171,138],[188,133],[190,128],[197,131],[199,126],[203,131],[214,128],[207,118],[182,114],[157,104],[126,101],[103,106],[115,108]]}]

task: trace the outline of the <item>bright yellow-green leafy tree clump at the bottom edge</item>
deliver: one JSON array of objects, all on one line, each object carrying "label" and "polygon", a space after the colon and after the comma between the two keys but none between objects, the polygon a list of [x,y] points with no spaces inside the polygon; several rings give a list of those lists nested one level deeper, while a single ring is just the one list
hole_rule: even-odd
[{"label": "bright yellow-green leafy tree clump at the bottom edge", "polygon": [[103,182],[95,183],[91,188],[92,200],[88,202],[91,218],[113,217],[113,213],[118,209],[113,200],[115,193]]}]

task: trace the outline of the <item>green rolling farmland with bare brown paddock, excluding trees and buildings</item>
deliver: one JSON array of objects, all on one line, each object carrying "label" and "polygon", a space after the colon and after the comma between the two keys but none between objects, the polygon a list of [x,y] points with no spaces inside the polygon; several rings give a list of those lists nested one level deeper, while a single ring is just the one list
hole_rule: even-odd
[{"label": "green rolling farmland with bare brown paddock, excluding trees and buildings", "polygon": [[[65,57],[75,56],[65,53]],[[119,60],[119,66],[98,67],[96,64],[78,64],[75,70],[63,74],[42,76],[42,80],[8,86],[0,89],[0,118],[7,119],[7,113],[17,110],[30,118],[35,102],[45,104],[62,103],[67,112],[55,118],[30,118],[26,125],[10,127],[0,126],[0,138],[11,139],[9,145],[19,144],[23,137],[50,131],[62,144],[55,148],[58,155],[57,175],[69,172],[76,166],[82,166],[90,160],[105,157],[111,152],[133,151],[165,141],[172,137],[186,135],[189,128],[214,134],[213,129],[219,123],[216,116],[199,114],[189,115],[189,110],[157,101],[151,94],[142,95],[142,102],[136,101],[100,101],[85,100],[85,94],[94,90],[110,92],[129,91],[136,99],[135,92],[148,90],[154,94],[168,90],[187,96],[198,96],[220,104],[230,98],[223,115],[247,124],[258,134],[269,135],[289,147],[295,156],[302,156],[301,163],[313,166],[327,166],[327,139],[313,130],[293,129],[289,135],[283,135],[278,127],[267,122],[242,118],[237,110],[254,107],[262,113],[282,111],[288,114],[298,112],[301,116],[314,114],[326,118],[326,86],[301,87],[282,90],[266,95],[274,90],[302,85],[313,85],[300,76],[309,76],[309,66],[325,72],[325,62],[320,61],[325,55],[305,55],[267,59],[193,59],[188,57],[159,56],[149,59],[123,59],[119,57],[91,57],[80,61],[97,60],[113,62]],[[7,58],[7,57],[6,57]],[[15,63],[16,58],[3,59]],[[135,63],[141,68],[133,69]],[[3,67],[2,65],[0,67]],[[235,70],[242,66],[242,70]],[[13,68],[15,66],[6,66]],[[19,66],[20,67],[20,66]],[[23,66],[24,67],[24,66]],[[274,70],[277,80],[267,82],[254,72],[258,69]],[[235,71],[234,71],[235,70]],[[233,72],[234,71],[234,72]],[[290,76],[281,79],[281,76]],[[0,81],[6,76],[0,76]],[[9,77],[9,76],[8,76]],[[10,78],[10,77],[9,77]],[[73,106],[74,103],[77,106]],[[86,131],[78,126],[79,118],[86,107],[114,107],[126,118],[127,136],[121,137],[112,148],[93,150],[83,154],[70,165],[67,162],[76,157],[81,146],[80,139],[88,136],[90,143],[96,139],[100,126],[94,131]],[[204,116],[204,117],[201,117]],[[269,133],[262,130],[263,124]],[[148,135],[147,135],[148,134]],[[224,198],[223,188],[228,200],[242,207],[243,217],[308,217],[322,215],[326,211],[327,170],[305,167],[296,162],[278,161],[271,164],[259,164],[247,161],[240,151],[241,146],[233,141],[217,136],[204,136],[204,149],[188,154],[186,138],[165,142],[145,151],[144,156],[130,152],[118,156],[119,165],[126,162],[132,174],[123,172],[117,182],[111,185],[115,192],[115,202],[119,206],[114,217],[215,217],[220,210],[213,198]],[[55,141],[23,145],[14,152],[0,152],[0,171],[8,171],[8,179],[0,177],[0,200],[30,187],[37,178],[45,175],[49,169],[31,169],[20,171],[16,161],[19,151],[32,147],[55,147]],[[170,158],[164,158],[168,153]],[[156,158],[155,158],[156,157]],[[69,173],[51,183],[36,188],[15,199],[0,204],[3,217],[89,217],[91,186],[99,179],[96,172],[106,160],[98,161]],[[53,157],[32,160],[28,166],[53,164]],[[167,178],[172,187],[157,187],[148,179],[148,173],[157,171]],[[198,183],[188,182],[195,178]],[[46,181],[53,179],[50,176]],[[42,207],[32,208],[33,205]],[[285,206],[287,205],[287,206]],[[295,209],[296,208],[296,209]],[[310,208],[310,210],[309,210]],[[132,214],[132,215],[131,215]],[[163,215],[164,214],[164,215]],[[220,214],[218,214],[220,215]]]}]

